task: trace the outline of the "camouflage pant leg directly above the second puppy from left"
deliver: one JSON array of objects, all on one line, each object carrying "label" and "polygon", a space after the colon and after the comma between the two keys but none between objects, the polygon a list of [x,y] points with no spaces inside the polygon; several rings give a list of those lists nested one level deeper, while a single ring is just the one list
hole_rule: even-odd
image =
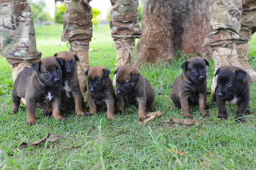
[{"label": "camouflage pant leg directly above the second puppy from left", "polygon": [[62,41],[70,41],[71,45],[81,45],[89,50],[92,38],[92,8],[91,0],[64,0],[64,25]]}]

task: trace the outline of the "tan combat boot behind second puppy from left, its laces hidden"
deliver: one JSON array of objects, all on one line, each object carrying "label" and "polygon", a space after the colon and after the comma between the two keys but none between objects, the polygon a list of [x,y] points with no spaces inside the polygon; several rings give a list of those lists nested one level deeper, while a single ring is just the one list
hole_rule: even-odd
[{"label": "tan combat boot behind second puppy from left, its laces hidden", "polygon": [[79,63],[77,63],[77,74],[80,84],[80,90],[84,92],[84,89],[87,87],[85,71],[90,67],[88,50],[84,49],[84,47],[82,46],[70,46],[68,51],[76,54],[79,58]]}]

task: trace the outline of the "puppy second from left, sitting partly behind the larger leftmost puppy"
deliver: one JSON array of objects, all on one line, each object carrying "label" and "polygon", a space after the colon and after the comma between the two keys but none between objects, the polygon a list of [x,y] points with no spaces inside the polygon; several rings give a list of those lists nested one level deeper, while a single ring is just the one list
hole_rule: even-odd
[{"label": "puppy second from left, sitting partly behind the larger leftmost puppy", "polygon": [[63,59],[60,108],[65,111],[75,109],[78,116],[88,115],[78,81],[76,67],[76,61],[79,63],[78,57],[68,51],[56,53],[54,56]]}]

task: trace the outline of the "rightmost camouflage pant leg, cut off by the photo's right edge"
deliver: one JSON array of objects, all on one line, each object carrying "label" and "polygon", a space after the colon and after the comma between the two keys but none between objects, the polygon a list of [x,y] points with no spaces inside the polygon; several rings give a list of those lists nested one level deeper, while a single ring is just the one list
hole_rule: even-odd
[{"label": "rightmost camouflage pant leg, cut off by the photo's right edge", "polygon": [[256,31],[256,0],[243,1],[243,12],[240,23],[240,39],[236,43],[247,43],[252,39],[252,35]]}]

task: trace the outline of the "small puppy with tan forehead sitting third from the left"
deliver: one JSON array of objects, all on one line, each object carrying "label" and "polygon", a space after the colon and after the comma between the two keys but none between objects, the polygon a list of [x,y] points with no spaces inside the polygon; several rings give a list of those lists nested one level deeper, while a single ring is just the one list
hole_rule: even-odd
[{"label": "small puppy with tan forehead sitting third from the left", "polygon": [[114,113],[117,113],[117,100],[109,74],[110,70],[103,66],[91,66],[86,70],[88,84],[86,98],[90,114],[96,113],[97,109],[107,107],[108,119],[114,119]]}]

